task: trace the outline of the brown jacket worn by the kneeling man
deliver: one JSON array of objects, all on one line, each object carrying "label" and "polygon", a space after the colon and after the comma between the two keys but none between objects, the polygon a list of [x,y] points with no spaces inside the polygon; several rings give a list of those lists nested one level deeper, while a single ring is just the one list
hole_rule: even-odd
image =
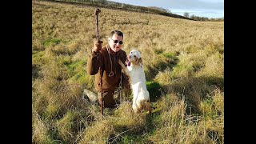
[{"label": "brown jacket worn by the kneeling man", "polygon": [[[108,53],[108,50],[110,51],[110,53]],[[94,86],[96,90],[98,91],[101,90],[100,74],[99,74],[100,73],[99,66],[101,66],[100,60],[102,62],[102,73],[103,73],[102,91],[115,90],[119,86],[122,69],[121,69],[121,66],[118,64],[118,59],[121,59],[121,61],[125,63],[126,52],[124,50],[119,50],[116,54],[114,54],[114,52],[110,50],[109,45],[103,46],[102,50],[100,50],[98,54],[95,52],[91,52],[87,60],[86,71],[90,75],[96,74],[95,82],[94,82]],[[111,61],[112,61],[112,71],[114,75],[112,77],[109,77],[109,74],[111,72]],[[128,78],[122,78],[122,81],[127,81],[127,80]]]}]

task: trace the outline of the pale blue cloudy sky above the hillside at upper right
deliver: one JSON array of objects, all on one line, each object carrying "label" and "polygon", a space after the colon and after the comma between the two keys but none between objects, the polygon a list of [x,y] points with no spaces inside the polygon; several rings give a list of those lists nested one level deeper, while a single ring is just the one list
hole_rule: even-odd
[{"label": "pale blue cloudy sky above the hillside at upper right", "polygon": [[224,18],[224,0],[111,0],[135,6],[157,6],[170,10],[173,14],[198,17]]}]

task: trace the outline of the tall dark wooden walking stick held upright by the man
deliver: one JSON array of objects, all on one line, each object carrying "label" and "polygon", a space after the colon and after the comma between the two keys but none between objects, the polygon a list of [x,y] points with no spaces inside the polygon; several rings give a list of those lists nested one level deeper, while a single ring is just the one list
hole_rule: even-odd
[{"label": "tall dark wooden walking stick held upright by the man", "polygon": [[[98,41],[98,13],[100,13],[101,10],[99,10],[98,8],[95,10],[95,13],[96,14],[96,32],[97,32],[97,41]],[[99,53],[98,53],[99,54]],[[102,103],[101,103],[101,107],[102,107],[102,115],[103,115],[103,105],[104,105],[104,102],[103,102],[103,96],[102,96],[102,59],[99,58],[100,60],[100,66],[99,66],[99,75],[100,75],[100,85],[101,85],[101,98],[102,98]]]}]

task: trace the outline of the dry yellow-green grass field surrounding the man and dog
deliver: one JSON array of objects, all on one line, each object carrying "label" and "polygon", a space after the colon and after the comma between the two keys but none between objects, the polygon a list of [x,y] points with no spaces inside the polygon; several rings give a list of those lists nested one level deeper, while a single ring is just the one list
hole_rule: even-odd
[{"label": "dry yellow-green grass field surrounding the man and dog", "polygon": [[152,114],[82,99],[94,90],[86,61],[95,7],[32,1],[33,143],[224,143],[224,22],[197,22],[101,7],[99,36],[124,33],[142,54]]}]

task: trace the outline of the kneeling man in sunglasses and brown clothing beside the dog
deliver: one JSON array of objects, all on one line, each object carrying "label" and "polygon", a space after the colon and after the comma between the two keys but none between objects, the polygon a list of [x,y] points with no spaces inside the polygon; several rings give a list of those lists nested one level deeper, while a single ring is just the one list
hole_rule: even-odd
[{"label": "kneeling man in sunglasses and brown clothing beside the dog", "polygon": [[[104,107],[114,107],[114,90],[118,88],[120,82],[122,87],[128,90],[129,82],[125,74],[122,74],[121,66],[118,59],[123,63],[126,62],[126,52],[122,50],[123,34],[119,30],[110,33],[108,44],[102,47],[102,41],[94,42],[94,47],[87,61],[87,73],[95,75],[94,86],[98,91],[98,103],[101,106],[101,79],[102,71],[102,97]],[[101,70],[99,67],[101,66]]]}]

